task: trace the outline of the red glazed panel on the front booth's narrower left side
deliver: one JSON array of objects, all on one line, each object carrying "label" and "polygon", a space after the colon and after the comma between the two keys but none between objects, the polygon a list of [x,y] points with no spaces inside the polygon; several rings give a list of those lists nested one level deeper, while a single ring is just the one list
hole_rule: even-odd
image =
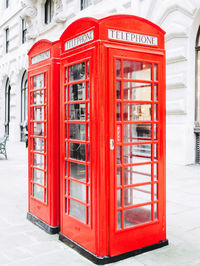
[{"label": "red glazed panel on the front booth's narrower left side", "polygon": [[95,253],[93,50],[61,63],[61,233]]}]

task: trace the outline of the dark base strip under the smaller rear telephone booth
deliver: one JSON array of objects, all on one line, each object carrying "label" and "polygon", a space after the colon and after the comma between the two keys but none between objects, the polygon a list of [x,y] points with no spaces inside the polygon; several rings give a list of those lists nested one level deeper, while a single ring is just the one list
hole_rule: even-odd
[{"label": "dark base strip under the smaller rear telephone booth", "polygon": [[27,219],[29,221],[31,221],[33,224],[35,224],[38,227],[40,227],[41,229],[43,229],[48,234],[53,235],[53,234],[57,234],[58,232],[60,232],[60,226],[55,226],[55,227],[51,226],[51,225],[43,222],[42,220],[40,220],[38,217],[34,216],[30,212],[27,212]]}]

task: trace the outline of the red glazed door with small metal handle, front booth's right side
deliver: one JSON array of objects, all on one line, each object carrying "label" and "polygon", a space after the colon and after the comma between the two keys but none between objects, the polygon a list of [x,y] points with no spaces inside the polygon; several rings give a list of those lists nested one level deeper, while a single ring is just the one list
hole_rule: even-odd
[{"label": "red glazed door with small metal handle, front booth's right side", "polygon": [[[109,50],[109,255],[165,240],[164,62]],[[113,102],[114,99],[114,102]]]}]

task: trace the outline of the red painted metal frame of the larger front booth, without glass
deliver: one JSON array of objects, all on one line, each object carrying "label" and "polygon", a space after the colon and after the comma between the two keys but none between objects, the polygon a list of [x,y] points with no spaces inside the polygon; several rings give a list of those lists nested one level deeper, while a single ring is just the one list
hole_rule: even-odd
[{"label": "red painted metal frame of the larger front booth, without glass", "polygon": [[[108,39],[108,29],[117,29],[143,35],[156,36],[156,47],[125,43]],[[94,39],[65,51],[65,42],[86,32],[94,31]],[[165,50],[164,31],[157,25],[135,16],[114,15],[100,20],[82,18],[72,23],[62,34],[61,42],[61,233],[80,244],[96,256],[115,256],[131,250],[153,245],[166,240],[166,198],[165,198]],[[65,210],[65,102],[64,72],[65,67],[89,58],[90,64],[90,143],[91,143],[91,226],[84,224]],[[158,65],[158,82],[153,79],[150,84],[158,84],[158,102],[142,101],[142,103],[158,104],[158,121],[141,123],[158,124],[158,140],[152,135],[150,141],[143,144],[158,144],[158,160],[154,160],[152,148],[149,164],[158,163],[158,181],[152,179],[152,206],[158,203],[158,220],[151,211],[151,222],[117,230],[116,211],[116,148],[127,143],[117,143],[116,121],[116,74],[115,60],[136,60]],[[153,66],[153,65],[152,65]],[[153,92],[152,92],[153,95]],[[141,101],[128,101],[141,103]],[[152,118],[153,119],[153,118]],[[124,122],[121,122],[121,125]],[[135,122],[136,123],[136,122]],[[140,122],[137,122],[140,123]],[[132,122],[134,124],[134,122]],[[110,139],[114,139],[114,150],[110,150]],[[134,143],[135,144],[135,143]],[[141,144],[141,142],[140,142]],[[152,145],[154,146],[154,145]],[[123,152],[123,148],[122,148]],[[153,160],[153,161],[152,161]],[[121,166],[122,167],[122,166]],[[153,168],[152,168],[153,169]],[[154,184],[158,184],[158,200],[154,199]],[[137,184],[138,186],[139,184]],[[144,184],[143,184],[144,185]],[[122,184],[121,189],[124,185]],[[134,185],[127,186],[134,187]],[[144,206],[141,204],[138,206]],[[123,205],[123,201],[121,202]],[[137,205],[135,205],[137,206]],[[120,209],[120,208],[119,208]],[[121,208],[121,210],[123,207]]]}]

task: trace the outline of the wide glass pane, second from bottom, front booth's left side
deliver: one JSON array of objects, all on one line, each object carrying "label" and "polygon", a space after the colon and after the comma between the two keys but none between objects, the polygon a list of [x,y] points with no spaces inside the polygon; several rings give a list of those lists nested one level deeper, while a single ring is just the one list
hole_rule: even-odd
[{"label": "wide glass pane, second from bottom, front booth's left side", "polygon": [[86,202],[86,186],[70,180],[70,195],[75,199]]}]

